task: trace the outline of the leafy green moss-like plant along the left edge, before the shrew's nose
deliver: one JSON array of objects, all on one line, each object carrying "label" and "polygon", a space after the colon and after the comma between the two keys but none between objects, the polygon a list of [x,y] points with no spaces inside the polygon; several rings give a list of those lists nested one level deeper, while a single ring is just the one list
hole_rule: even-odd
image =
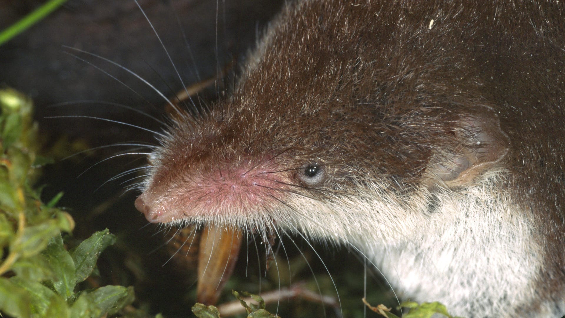
[{"label": "leafy green moss-like plant along the left edge, before the shrew's nose", "polygon": [[33,189],[47,162],[36,154],[32,101],[0,90],[0,313],[14,317],[88,318],[114,315],[133,302],[133,289],[102,286],[81,290],[98,255],[114,244],[106,229],[66,249],[72,217]]}]

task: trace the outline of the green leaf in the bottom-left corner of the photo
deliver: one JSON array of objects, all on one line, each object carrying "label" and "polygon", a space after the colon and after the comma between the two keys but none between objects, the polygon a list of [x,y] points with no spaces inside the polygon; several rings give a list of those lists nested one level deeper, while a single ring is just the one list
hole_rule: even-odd
[{"label": "green leaf in the bottom-left corner of the photo", "polygon": [[0,278],[0,312],[17,318],[31,316],[29,294],[14,282]]}]

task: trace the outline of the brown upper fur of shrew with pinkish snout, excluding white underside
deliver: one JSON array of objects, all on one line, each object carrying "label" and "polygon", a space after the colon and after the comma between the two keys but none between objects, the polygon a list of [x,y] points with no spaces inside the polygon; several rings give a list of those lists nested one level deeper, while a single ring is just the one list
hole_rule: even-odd
[{"label": "brown upper fur of shrew with pinkish snout, excluding white underside", "polygon": [[[557,312],[565,290],[564,28],[562,2],[290,5],[233,95],[205,117],[172,127],[136,204],[148,218],[158,205],[164,214],[176,211],[174,220],[219,222],[231,205],[234,215],[221,220],[253,213],[255,221],[268,220],[289,193],[339,202],[378,180],[411,206],[423,188],[458,191],[502,169],[498,187],[511,189],[521,206],[516,217],[531,220],[532,240],[543,246],[538,298],[521,310],[536,312],[554,298]],[[477,139],[487,145],[473,145]],[[453,177],[431,173],[451,161]],[[297,177],[311,164],[327,174],[315,187]],[[214,196],[215,186],[205,186],[197,201],[186,195],[241,167],[262,190],[252,182],[238,184],[246,190],[236,190],[236,199]],[[173,188],[172,198],[162,198]],[[215,202],[205,216],[206,200]],[[284,215],[301,222],[298,212]]]}]

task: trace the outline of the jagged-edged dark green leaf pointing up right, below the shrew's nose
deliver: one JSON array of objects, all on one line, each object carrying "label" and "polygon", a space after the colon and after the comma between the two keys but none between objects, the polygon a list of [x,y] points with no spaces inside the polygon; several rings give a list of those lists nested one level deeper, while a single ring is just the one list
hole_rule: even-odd
[{"label": "jagged-edged dark green leaf pointing up right, below the shrew's nose", "polygon": [[71,251],[71,257],[75,262],[76,281],[81,282],[90,276],[96,266],[98,255],[108,246],[114,244],[116,237],[110,234],[108,229],[98,231],[88,239],[81,242]]}]

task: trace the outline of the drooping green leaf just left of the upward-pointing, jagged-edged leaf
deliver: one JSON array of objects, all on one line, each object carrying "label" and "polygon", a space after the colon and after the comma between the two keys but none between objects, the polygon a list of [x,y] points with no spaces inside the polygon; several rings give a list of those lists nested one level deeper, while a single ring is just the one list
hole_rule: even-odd
[{"label": "drooping green leaf just left of the upward-pointing, jagged-edged leaf", "polygon": [[76,285],[75,262],[73,262],[71,254],[64,249],[63,239],[60,235],[49,241],[44,255],[55,274],[53,287],[59,295],[68,299],[72,296]]}]

